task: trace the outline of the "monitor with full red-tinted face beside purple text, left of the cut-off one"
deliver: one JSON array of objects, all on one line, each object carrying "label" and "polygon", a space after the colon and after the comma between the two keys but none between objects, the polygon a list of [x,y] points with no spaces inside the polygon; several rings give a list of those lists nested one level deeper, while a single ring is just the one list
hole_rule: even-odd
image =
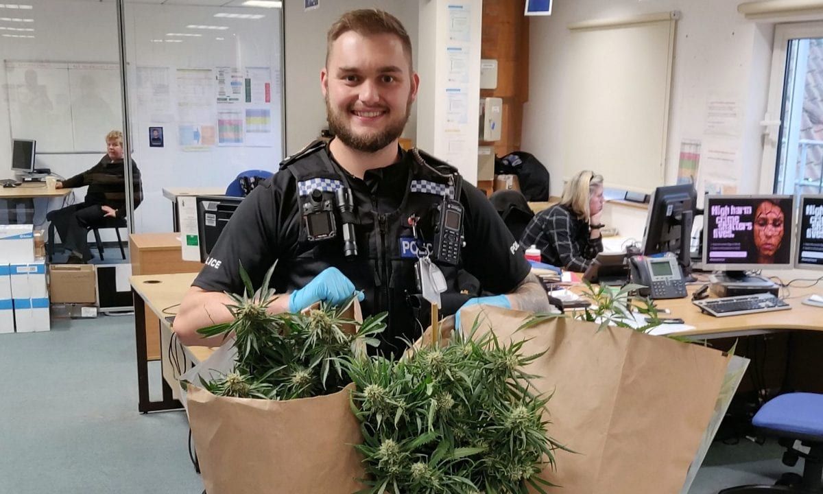
[{"label": "monitor with full red-tinted face beside purple text, left of the cut-off one", "polygon": [[703,264],[740,279],[746,270],[792,268],[790,195],[706,196]]}]

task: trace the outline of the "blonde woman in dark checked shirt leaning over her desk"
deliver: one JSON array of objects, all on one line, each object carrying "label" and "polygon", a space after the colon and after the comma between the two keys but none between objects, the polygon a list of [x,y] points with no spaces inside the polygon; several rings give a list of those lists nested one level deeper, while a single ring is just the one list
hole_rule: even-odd
[{"label": "blonde woman in dark checked shirt leaning over her desk", "polygon": [[535,245],[544,263],[584,273],[603,250],[602,210],[603,177],[583,170],[565,184],[560,203],[532,218],[520,245]]}]

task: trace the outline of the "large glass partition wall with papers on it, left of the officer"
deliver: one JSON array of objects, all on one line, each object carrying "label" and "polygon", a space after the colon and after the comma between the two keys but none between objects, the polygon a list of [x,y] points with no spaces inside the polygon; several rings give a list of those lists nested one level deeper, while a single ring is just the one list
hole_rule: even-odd
[{"label": "large glass partition wall with papers on it, left of the officer", "polygon": [[[14,139],[36,142],[34,168],[68,178],[105,156],[109,131],[128,131],[142,182],[128,230],[161,232],[173,229],[174,189],[225,191],[244,170],[277,170],[281,2],[21,2],[0,4],[0,179],[21,179]],[[0,223],[45,230],[49,211],[85,197],[0,197]]]}]

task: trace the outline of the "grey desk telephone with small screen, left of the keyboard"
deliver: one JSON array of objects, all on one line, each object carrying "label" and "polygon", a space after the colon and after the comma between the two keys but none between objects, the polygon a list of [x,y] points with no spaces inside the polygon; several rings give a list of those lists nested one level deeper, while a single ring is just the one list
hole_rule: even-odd
[{"label": "grey desk telephone with small screen, left of the keyboard", "polygon": [[667,253],[663,257],[635,255],[630,259],[631,281],[644,288],[638,290],[640,296],[651,299],[683,298],[686,281],[677,264],[677,257]]}]

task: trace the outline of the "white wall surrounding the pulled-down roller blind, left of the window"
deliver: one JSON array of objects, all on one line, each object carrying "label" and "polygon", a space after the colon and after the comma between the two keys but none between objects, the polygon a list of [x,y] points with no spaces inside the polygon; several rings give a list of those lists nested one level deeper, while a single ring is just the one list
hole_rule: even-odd
[{"label": "white wall surrounding the pulled-down roller blind, left of the window", "polygon": [[[555,2],[548,17],[529,24],[529,99],[523,117],[523,151],[532,152],[551,173],[552,193],[562,188],[562,156],[569,141],[558,111],[568,94],[571,22],[635,16],[649,12],[681,11],[677,21],[672,103],[666,153],[666,184],[677,179],[680,142],[704,135],[706,102],[713,96],[732,96],[742,107],[738,137],[728,142],[738,152],[738,189],[756,192],[762,139],[760,120],[766,92],[774,26],[746,21],[737,13],[740,0],[574,0]],[[608,129],[602,129],[608,132]],[[592,136],[597,145],[597,136]],[[701,163],[702,165],[702,163]],[[597,164],[592,164],[597,170]],[[605,177],[608,182],[609,177]]]}]

